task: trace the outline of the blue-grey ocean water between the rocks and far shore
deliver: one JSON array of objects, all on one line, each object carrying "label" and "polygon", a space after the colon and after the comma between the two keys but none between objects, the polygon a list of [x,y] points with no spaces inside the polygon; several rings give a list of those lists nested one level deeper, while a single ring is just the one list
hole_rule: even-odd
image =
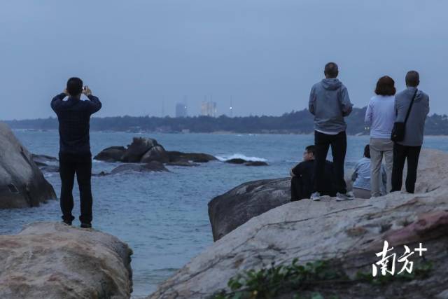
[{"label": "blue-grey ocean water between the rocks and far shore", "polygon": [[[57,131],[16,130],[32,153],[57,156]],[[92,153],[108,146],[126,146],[132,137],[151,137],[169,151],[202,152],[220,160],[263,160],[267,167],[230,165],[221,161],[199,167],[167,167],[168,173],[131,173],[92,177],[94,228],[109,232],[134,251],[134,298],[149,295],[156,286],[213,243],[207,203],[213,197],[256,179],[288,176],[302,159],[312,135],[269,134],[136,134],[92,132]],[[448,151],[448,137],[426,137],[425,147]],[[349,137],[346,168],[362,157],[368,137]],[[93,163],[94,173],[110,171],[118,163]],[[45,174],[59,196],[59,174]],[[74,216],[79,216],[77,186]],[[59,202],[41,207],[0,210],[0,234],[15,234],[34,221],[60,221]],[[79,225],[78,220],[73,225]]]}]

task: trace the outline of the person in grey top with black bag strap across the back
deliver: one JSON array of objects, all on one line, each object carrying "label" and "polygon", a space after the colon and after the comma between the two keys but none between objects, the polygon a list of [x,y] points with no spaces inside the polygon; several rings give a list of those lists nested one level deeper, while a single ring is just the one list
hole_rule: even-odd
[{"label": "person in grey top with black bag strap across the back", "polygon": [[407,88],[395,95],[395,122],[404,122],[409,105],[414,97],[414,104],[405,125],[405,138],[393,144],[392,190],[400,191],[402,186],[403,168],[407,160],[406,191],[414,193],[417,177],[419,155],[423,144],[423,131],[426,116],[429,113],[429,97],[425,92],[417,90],[420,83],[419,73],[408,71],[406,74]]}]

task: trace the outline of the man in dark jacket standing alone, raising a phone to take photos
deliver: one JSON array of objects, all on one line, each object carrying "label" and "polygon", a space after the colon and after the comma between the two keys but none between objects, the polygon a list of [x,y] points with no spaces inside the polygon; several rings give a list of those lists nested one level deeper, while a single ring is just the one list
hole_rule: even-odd
[{"label": "man in dark jacket standing alone, raising a phone to take photos", "polygon": [[[80,99],[84,94],[89,99]],[[65,97],[68,97],[65,99]],[[80,193],[79,220],[81,228],[92,227],[92,153],[90,152],[90,116],[101,109],[102,104],[80,78],[69,78],[66,90],[54,97],[51,108],[59,120],[59,173],[61,176],[61,210],[64,223],[71,225],[74,217],[73,183],[78,180]]]}]

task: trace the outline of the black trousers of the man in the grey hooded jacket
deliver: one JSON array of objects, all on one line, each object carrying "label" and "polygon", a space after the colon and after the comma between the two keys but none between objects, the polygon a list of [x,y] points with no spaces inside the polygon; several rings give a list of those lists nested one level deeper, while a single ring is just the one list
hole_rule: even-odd
[{"label": "black trousers of the man in the grey hooded jacket", "polygon": [[[339,193],[346,193],[347,186],[344,180],[344,162],[347,151],[347,135],[340,132],[336,135],[323,134],[314,131],[314,146],[316,155],[314,156],[314,191],[323,194],[328,188],[325,185],[333,184],[333,189]],[[328,182],[323,179],[325,173],[325,160],[328,149],[331,146],[333,156],[333,181]]]}]

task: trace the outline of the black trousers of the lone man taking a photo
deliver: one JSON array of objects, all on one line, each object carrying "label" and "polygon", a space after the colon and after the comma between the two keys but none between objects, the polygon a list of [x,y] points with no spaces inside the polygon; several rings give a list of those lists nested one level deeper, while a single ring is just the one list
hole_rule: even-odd
[{"label": "black trousers of the lone man taking a photo", "polygon": [[59,155],[59,174],[62,181],[60,199],[62,219],[70,223],[74,219],[71,211],[73,210],[72,190],[76,174],[80,195],[81,215],[79,220],[81,223],[91,223],[92,188],[90,179],[92,178],[92,160],[90,156],[87,158],[85,156]]}]

